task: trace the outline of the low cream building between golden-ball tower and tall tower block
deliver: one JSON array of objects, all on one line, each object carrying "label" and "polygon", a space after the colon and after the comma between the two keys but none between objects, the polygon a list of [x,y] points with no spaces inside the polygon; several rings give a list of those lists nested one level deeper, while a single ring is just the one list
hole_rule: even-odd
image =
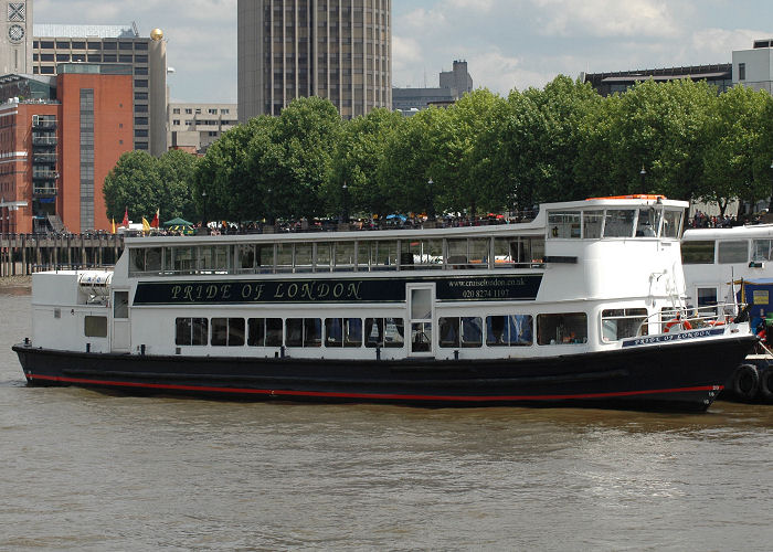
[{"label": "low cream building between golden-ball tower and tall tower block", "polygon": [[167,142],[170,149],[204,153],[237,124],[236,104],[169,104]]}]

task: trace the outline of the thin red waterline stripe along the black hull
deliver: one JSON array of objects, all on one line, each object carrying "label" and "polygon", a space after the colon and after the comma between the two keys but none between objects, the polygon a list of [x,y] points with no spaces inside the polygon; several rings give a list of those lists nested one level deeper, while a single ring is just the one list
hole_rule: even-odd
[{"label": "thin red waterline stripe along the black hull", "polygon": [[209,388],[201,385],[171,385],[166,383],[115,382],[106,380],[86,380],[82,378],[65,378],[59,375],[27,374],[31,380],[45,380],[62,383],[86,383],[92,385],[110,385],[116,388],[158,389],[168,391],[199,391],[205,393],[234,393],[268,396],[309,396],[328,399],[383,399],[394,401],[458,401],[458,402],[506,402],[506,401],[559,401],[566,399],[614,399],[622,396],[650,395],[663,393],[687,393],[696,391],[722,391],[724,385],[703,385],[698,388],[658,389],[649,391],[620,391],[615,393],[583,393],[576,395],[399,395],[383,393],[333,393],[324,391],[283,391],[264,389]]}]

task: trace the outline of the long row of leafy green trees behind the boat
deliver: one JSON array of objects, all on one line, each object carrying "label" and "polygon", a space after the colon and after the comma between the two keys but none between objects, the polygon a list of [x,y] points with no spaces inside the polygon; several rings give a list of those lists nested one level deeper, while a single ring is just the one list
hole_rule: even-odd
[{"label": "long row of leafy green trees behind the boat", "polygon": [[189,220],[338,216],[345,201],[352,214],[478,214],[627,193],[723,210],[770,197],[772,159],[769,94],[650,79],[602,98],[559,76],[506,98],[478,89],[410,118],[377,109],[342,121],[326,99],[297,99],[225,132],[198,161],[125,155],[105,199],[108,216],[129,206],[135,220],[158,206]]}]

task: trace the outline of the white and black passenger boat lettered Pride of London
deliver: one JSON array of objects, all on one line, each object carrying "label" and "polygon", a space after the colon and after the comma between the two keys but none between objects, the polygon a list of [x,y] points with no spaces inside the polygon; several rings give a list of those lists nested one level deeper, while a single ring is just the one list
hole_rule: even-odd
[{"label": "white and black passenger boat lettered Pride of London", "polygon": [[32,385],[417,405],[703,411],[755,338],[681,323],[687,203],[519,224],[142,237],[33,276]]}]

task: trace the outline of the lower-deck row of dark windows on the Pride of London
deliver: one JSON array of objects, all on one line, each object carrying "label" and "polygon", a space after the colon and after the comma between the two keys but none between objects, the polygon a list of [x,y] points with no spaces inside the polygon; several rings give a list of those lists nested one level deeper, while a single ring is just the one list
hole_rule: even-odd
[{"label": "lower-deck row of dark windows on the Pride of London", "polygon": [[[610,312],[610,311],[606,311]],[[623,316],[625,319],[625,317]],[[634,317],[631,317],[634,321]],[[623,337],[632,337],[640,326],[628,323]],[[607,321],[605,321],[605,325]],[[177,346],[213,347],[303,347],[303,348],[403,348],[405,322],[402,318],[177,318]],[[438,320],[442,349],[486,347],[530,347],[534,344],[531,315],[443,317]],[[432,323],[422,325],[422,336],[432,333]],[[607,336],[610,335],[607,329]],[[618,328],[614,333],[617,336]],[[633,333],[635,335],[635,333]],[[416,336],[414,336],[415,338]],[[607,339],[608,341],[608,339]],[[584,312],[537,316],[537,344],[587,342]]]}]

